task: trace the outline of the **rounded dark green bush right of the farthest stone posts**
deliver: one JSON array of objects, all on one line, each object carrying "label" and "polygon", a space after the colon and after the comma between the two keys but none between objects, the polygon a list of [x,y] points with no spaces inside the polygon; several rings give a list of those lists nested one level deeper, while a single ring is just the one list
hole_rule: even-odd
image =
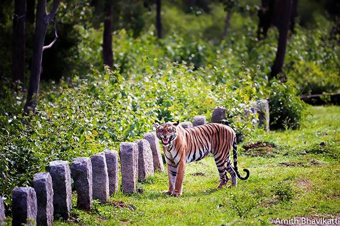
[{"label": "rounded dark green bush right of the farthest stone posts", "polygon": [[296,89],[288,82],[286,84],[274,81],[268,99],[270,128],[283,129],[300,127],[305,114],[305,104],[297,96]]}]

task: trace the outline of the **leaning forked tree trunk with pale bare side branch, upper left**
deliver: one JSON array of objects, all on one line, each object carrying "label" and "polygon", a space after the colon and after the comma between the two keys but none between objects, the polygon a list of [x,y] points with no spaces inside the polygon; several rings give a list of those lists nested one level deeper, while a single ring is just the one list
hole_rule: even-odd
[{"label": "leaning forked tree trunk with pale bare side branch, upper left", "polygon": [[[53,0],[52,10],[49,14],[47,14],[46,13],[46,0],[38,0],[37,13],[36,13],[36,31],[35,31],[35,36],[33,38],[32,66],[30,70],[26,104],[24,106],[25,113],[35,112],[36,110],[43,51],[47,48],[50,48],[56,40],[55,38],[51,42],[51,44],[49,44],[49,46],[44,47],[46,30],[52,18],[55,17],[59,3],[60,3],[60,0]],[[54,21],[54,23],[56,22]]]}]

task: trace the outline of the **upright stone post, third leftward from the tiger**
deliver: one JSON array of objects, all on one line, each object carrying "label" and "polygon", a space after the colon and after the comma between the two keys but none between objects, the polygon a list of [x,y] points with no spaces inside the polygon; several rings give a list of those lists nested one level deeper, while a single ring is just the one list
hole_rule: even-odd
[{"label": "upright stone post, third leftward from the tiger", "polygon": [[136,191],[138,179],[138,145],[136,143],[120,143],[119,157],[123,192],[133,193]]}]

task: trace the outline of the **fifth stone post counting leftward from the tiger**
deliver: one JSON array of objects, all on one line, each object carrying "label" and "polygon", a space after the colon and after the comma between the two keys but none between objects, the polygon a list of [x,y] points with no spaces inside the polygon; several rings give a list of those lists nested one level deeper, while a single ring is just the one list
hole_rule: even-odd
[{"label": "fifth stone post counting leftward from the tiger", "polygon": [[109,175],[105,153],[100,152],[91,157],[92,163],[92,197],[102,203],[109,200]]}]

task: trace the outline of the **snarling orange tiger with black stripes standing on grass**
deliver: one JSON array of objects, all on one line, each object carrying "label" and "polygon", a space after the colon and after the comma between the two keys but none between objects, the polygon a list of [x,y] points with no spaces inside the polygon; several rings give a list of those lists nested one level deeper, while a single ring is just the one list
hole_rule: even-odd
[{"label": "snarling orange tiger with black stripes standing on grass", "polygon": [[[153,124],[157,138],[161,141],[169,188],[164,194],[179,197],[182,195],[183,178],[186,163],[199,161],[213,154],[219,172],[220,180],[216,189],[227,185],[231,176],[231,186],[237,185],[237,177],[246,180],[249,170],[243,169],[246,176],[242,177],[237,169],[237,143],[235,131],[228,125],[209,123],[190,128],[183,128],[177,122]],[[233,148],[233,166],[230,162],[230,149]]]}]

